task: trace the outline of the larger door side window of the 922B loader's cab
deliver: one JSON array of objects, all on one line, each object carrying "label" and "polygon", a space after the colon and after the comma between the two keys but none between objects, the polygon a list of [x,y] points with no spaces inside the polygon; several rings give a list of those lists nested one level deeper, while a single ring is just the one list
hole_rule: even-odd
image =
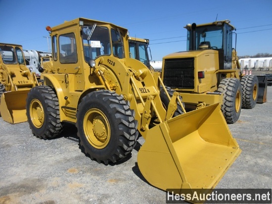
[{"label": "larger door side window of the 922B loader's cab", "polygon": [[59,61],[60,63],[77,63],[77,46],[74,33],[59,36]]}]

